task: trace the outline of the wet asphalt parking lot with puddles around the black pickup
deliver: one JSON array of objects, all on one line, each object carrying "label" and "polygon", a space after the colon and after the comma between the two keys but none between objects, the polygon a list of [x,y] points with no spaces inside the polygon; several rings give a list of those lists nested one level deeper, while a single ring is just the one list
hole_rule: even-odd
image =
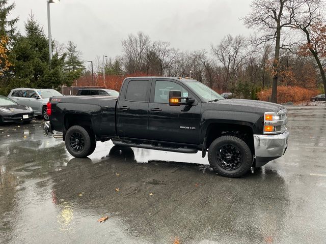
[{"label": "wet asphalt parking lot with puddles around the black pickup", "polygon": [[325,243],[326,109],[287,109],[286,154],[237,179],[200,153],[75,159],[38,122],[0,127],[0,243]]}]

